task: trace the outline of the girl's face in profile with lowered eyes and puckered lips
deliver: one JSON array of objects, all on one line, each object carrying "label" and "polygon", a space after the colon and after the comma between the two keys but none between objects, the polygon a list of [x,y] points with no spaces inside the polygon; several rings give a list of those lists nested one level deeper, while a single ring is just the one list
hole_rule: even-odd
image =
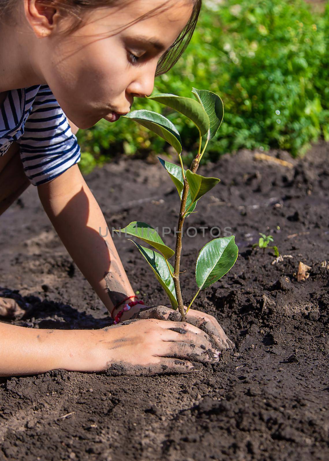
[{"label": "girl's face in profile with lowered eyes and puckered lips", "polygon": [[[163,4],[166,11],[127,27]],[[57,21],[55,13],[49,30],[46,24],[46,36],[36,41],[34,62],[79,128],[89,128],[101,118],[115,121],[113,112],[129,112],[135,96],[151,95],[158,60],[183,30],[192,9],[189,0],[134,0],[86,12],[85,25],[68,36],[60,32],[69,18]],[[26,9],[25,13],[30,14]],[[40,27],[29,22],[38,35]]]}]

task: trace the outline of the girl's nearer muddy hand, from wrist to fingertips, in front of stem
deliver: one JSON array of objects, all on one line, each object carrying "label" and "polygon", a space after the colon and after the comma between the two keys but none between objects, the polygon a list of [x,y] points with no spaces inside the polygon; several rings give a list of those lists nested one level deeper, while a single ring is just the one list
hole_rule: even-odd
[{"label": "girl's nearer muddy hand, from wrist to fingertips, in front of stem", "polygon": [[210,337],[186,322],[157,319],[128,320],[94,331],[86,344],[86,371],[106,370],[110,375],[193,372],[191,363],[219,361]]}]

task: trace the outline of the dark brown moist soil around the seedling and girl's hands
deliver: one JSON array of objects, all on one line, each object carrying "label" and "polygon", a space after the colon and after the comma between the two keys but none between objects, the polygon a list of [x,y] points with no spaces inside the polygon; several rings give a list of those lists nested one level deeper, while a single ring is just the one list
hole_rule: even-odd
[{"label": "dark brown moist soil around the seedling and girl's hands", "polygon": [[[4,460],[328,460],[328,145],[293,168],[242,151],[200,173],[221,178],[188,226],[231,227],[239,256],[195,308],[235,342],[218,365],[189,375],[111,377],[48,372],[0,378]],[[127,179],[127,180],[126,180]],[[174,226],[178,197],[162,167],[122,160],[87,178],[109,227],[140,219]],[[165,203],[164,203],[165,200]],[[158,217],[157,217],[158,216]],[[277,228],[280,227],[280,229]],[[252,251],[270,233],[282,255]],[[192,233],[192,232],[191,232]],[[195,293],[198,250],[183,238],[183,295]],[[138,251],[115,237],[129,278],[151,305],[166,303]],[[172,245],[174,236],[165,237]],[[109,316],[55,234],[32,186],[0,219],[2,296],[28,309],[16,325],[101,328]],[[311,266],[298,282],[299,261]],[[327,262],[326,262],[327,261]],[[328,266],[326,266],[328,264]],[[14,291],[12,291],[14,290]]]}]

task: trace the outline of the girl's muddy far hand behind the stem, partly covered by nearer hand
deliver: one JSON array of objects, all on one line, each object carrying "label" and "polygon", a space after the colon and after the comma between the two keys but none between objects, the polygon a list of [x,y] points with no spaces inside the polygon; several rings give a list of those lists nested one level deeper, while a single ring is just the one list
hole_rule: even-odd
[{"label": "girl's muddy far hand behind the stem, partly covered by nearer hand", "polygon": [[[146,307],[134,314],[134,318],[179,321],[181,314],[168,306]],[[223,328],[212,315],[189,309],[186,318],[190,324],[205,331],[213,339],[217,348],[234,349],[234,343],[225,335]]]}]

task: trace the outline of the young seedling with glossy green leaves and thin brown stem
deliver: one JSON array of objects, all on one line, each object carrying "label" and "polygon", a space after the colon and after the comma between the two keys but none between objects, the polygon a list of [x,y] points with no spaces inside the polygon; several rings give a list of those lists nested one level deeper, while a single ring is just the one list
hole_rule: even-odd
[{"label": "young seedling with glossy green leaves and thin brown stem", "polygon": [[[238,258],[238,247],[234,242],[234,236],[215,238],[208,242],[200,251],[195,267],[195,280],[198,291],[190,301],[185,312],[180,284],[180,262],[182,254],[182,236],[185,219],[194,212],[197,202],[209,190],[219,183],[216,177],[204,177],[196,173],[203,154],[210,139],[215,136],[224,116],[223,102],[218,95],[211,91],[193,88],[193,98],[186,98],[171,94],[159,94],[150,96],[149,99],[158,101],[165,106],[171,107],[185,117],[192,120],[199,130],[198,152],[188,170],[184,169],[182,154],[182,140],[176,126],[163,115],[147,110],[129,112],[125,118],[130,118],[169,142],[178,154],[179,165],[162,160],[161,165],[168,172],[176,186],[180,197],[180,210],[177,225],[177,239],[175,251],[166,246],[159,236],[157,229],[141,222],[134,221],[124,229],[125,234],[138,237],[148,243],[157,251],[151,250],[134,242],[140,253],[151,266],[155,277],[167,293],[173,309],[179,309],[182,320],[201,290],[217,282],[234,265]],[[203,143],[203,138],[205,138]],[[202,144],[203,148],[202,148]],[[174,266],[169,260],[175,257]]]}]

